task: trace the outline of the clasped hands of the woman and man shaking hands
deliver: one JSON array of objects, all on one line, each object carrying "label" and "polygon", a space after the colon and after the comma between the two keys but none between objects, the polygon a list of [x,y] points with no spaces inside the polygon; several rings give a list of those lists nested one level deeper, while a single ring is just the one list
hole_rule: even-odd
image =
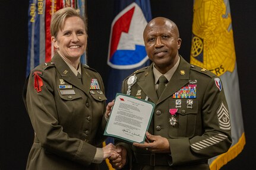
[{"label": "clasped hands of the woman and man shaking hands", "polygon": [[103,159],[108,158],[112,167],[115,169],[121,169],[127,162],[127,150],[125,147],[118,145],[115,146],[109,143],[103,149]]}]

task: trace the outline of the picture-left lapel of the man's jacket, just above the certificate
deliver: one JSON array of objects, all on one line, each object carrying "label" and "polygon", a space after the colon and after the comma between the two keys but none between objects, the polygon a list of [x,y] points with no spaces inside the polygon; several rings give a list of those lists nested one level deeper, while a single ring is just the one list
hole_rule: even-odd
[{"label": "picture-left lapel of the man's jacket, just above the certificate", "polygon": [[151,101],[154,103],[157,102],[158,97],[156,94],[156,89],[154,88],[153,63],[145,70],[144,75],[141,76],[137,84]]}]

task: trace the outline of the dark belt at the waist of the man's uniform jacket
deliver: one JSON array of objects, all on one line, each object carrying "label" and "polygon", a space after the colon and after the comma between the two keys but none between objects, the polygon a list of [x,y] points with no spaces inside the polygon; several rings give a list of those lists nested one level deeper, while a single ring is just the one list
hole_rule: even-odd
[{"label": "dark belt at the waist of the man's uniform jacket", "polygon": [[150,166],[170,166],[171,156],[167,154],[157,154],[157,153],[150,153],[150,154],[140,154],[135,153],[135,161],[142,165],[150,165]]}]

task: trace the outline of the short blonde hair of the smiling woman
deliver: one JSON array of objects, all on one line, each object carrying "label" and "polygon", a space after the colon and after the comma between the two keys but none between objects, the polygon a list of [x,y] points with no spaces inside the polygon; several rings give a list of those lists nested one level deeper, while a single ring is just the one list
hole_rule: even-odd
[{"label": "short blonde hair of the smiling woman", "polygon": [[52,15],[52,19],[50,20],[50,34],[53,37],[56,38],[58,31],[63,29],[64,22],[69,17],[81,18],[81,20],[83,20],[84,22],[84,27],[86,28],[86,33],[87,33],[87,25],[86,25],[85,18],[79,14],[78,10],[71,7],[67,7],[67,8],[59,9]]}]

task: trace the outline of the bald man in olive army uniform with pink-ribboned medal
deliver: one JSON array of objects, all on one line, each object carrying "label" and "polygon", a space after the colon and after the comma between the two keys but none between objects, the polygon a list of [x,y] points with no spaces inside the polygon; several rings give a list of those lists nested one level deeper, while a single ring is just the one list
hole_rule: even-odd
[{"label": "bald man in olive army uniform with pink-ribboned medal", "polygon": [[208,159],[232,143],[220,78],[178,54],[178,27],[167,18],[151,20],[143,37],[153,63],[131,75],[136,81],[125,79],[122,93],[154,102],[154,115],[146,142],[117,141],[119,155],[110,163],[116,169],[210,169]]}]

